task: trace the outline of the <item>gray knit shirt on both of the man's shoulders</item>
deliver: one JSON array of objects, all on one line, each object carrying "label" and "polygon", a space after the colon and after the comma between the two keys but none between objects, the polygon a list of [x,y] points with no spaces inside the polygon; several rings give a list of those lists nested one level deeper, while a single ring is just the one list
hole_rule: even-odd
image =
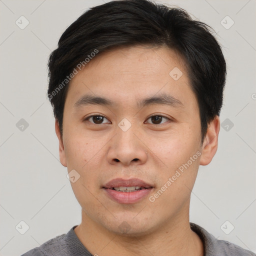
[{"label": "gray knit shirt on both of the man's shoulders", "polygon": [[[73,226],[66,234],[61,234],[44,242],[21,256],[93,256],[81,243]],[[197,224],[190,222],[191,229],[203,242],[203,256],[256,256],[255,253],[224,240],[217,240],[212,234]]]}]

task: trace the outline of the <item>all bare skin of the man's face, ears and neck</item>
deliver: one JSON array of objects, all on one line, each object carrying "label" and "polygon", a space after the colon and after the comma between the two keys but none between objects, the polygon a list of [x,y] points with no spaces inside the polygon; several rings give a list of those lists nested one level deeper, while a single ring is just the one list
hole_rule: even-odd
[{"label": "all bare skin of the man's face, ears and neck", "polygon": [[[174,67],[183,73],[176,81],[169,75]],[[163,92],[183,106],[137,107],[138,100]],[[115,104],[75,107],[85,94]],[[105,117],[101,124],[84,120],[93,114]],[[157,114],[169,119],[157,124],[151,118]],[[127,131],[118,126],[123,118],[131,123]],[[189,202],[199,165],[208,164],[216,152],[219,117],[209,123],[201,144],[198,103],[175,51],[132,46],[97,55],[71,80],[62,136],[57,121],[55,130],[61,164],[80,175],[70,182],[82,208],[82,221],[74,231],[91,254],[203,255],[202,241],[189,226]],[[151,202],[149,196],[198,151],[200,156]],[[138,202],[117,203],[101,188],[116,177],[139,178],[154,188]],[[127,233],[119,228],[124,220],[130,226]]]}]

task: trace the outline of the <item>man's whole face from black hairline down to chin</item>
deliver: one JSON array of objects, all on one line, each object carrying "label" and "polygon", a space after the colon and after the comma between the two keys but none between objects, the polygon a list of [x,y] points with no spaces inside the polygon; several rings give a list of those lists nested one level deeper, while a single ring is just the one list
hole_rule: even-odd
[{"label": "man's whole face from black hairline down to chin", "polygon": [[[144,101],[164,94],[172,97],[169,103],[166,97]],[[86,95],[112,104],[86,103]],[[71,80],[60,160],[80,175],[71,185],[84,218],[117,233],[127,225],[138,235],[185,221],[200,137],[198,104],[176,53],[124,47],[96,56]],[[150,187],[116,191],[108,183],[116,178],[138,178]]]}]

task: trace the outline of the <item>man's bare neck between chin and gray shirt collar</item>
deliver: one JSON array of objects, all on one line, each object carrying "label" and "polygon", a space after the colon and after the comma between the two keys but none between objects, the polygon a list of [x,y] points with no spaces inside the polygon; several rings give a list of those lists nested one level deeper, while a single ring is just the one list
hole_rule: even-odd
[{"label": "man's bare neck between chin and gray shirt collar", "polygon": [[[184,211],[183,211],[184,212]],[[162,226],[151,232],[127,235],[110,232],[93,221],[82,210],[82,221],[75,233],[82,244],[93,255],[203,255],[203,244],[199,236],[190,229],[189,210],[179,212]]]}]

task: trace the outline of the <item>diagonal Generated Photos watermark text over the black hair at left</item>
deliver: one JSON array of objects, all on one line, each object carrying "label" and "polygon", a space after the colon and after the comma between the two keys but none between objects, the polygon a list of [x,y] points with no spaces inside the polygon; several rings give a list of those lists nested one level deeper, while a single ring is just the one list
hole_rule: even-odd
[{"label": "diagonal Generated Photos watermark text over the black hair at left", "polygon": [[88,62],[98,53],[97,49],[94,49],[90,54],[87,55],[87,57],[83,60],[80,61],[76,67],[73,68],[73,71],[66,76],[66,78],[51,92],[48,93],[48,98],[49,100],[51,100],[53,98],[53,96],[56,96],[57,93],[63,88],[65,87],[66,84],[68,84],[68,82],[78,73],[78,70],[81,70],[82,67],[84,67],[86,64],[88,64]]}]

